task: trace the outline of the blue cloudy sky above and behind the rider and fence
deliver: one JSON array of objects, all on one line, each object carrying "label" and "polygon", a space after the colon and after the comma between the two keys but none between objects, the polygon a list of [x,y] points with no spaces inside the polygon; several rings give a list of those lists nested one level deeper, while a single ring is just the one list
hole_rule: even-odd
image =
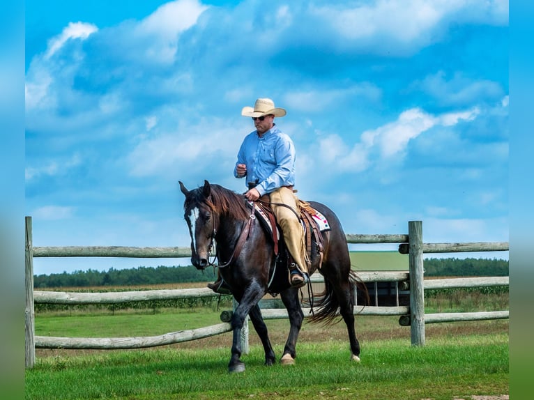
[{"label": "blue cloudy sky above and behind the rider and fence", "polygon": [[[25,13],[36,246],[188,246],[178,180],[245,189],[231,173],[254,129],[241,108],[259,97],[287,109],[299,197],[346,233],[422,220],[427,243],[508,241],[508,1],[32,0]],[[364,248],[396,246],[351,246]],[[34,269],[160,264],[176,260]]]}]

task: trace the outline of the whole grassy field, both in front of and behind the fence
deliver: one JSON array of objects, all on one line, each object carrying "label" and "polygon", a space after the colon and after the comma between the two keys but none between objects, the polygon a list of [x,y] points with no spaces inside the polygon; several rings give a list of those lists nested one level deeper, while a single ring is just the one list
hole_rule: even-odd
[{"label": "whole grassy field, both in front of and behind the fence", "polygon": [[[450,300],[452,298],[452,300]],[[434,295],[427,312],[507,309],[508,294]],[[227,309],[227,307],[222,307]],[[64,337],[149,336],[220,323],[216,307],[70,309],[36,315],[36,334]],[[266,321],[282,355],[289,323]],[[231,333],[130,351],[36,350],[26,399],[472,399],[508,394],[508,320],[425,327],[424,348],[396,316],[357,316],[360,363],[349,361],[343,323],[305,323],[296,365],[264,367],[252,326],[246,371],[228,374]]]}]

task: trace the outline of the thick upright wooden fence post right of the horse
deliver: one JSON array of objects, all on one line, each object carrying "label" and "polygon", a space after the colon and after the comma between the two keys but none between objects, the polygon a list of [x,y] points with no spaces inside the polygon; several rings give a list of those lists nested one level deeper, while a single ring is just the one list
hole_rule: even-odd
[{"label": "thick upright wooden fence post right of the horse", "polygon": [[411,344],[425,346],[425,289],[422,266],[422,221],[408,222]]}]

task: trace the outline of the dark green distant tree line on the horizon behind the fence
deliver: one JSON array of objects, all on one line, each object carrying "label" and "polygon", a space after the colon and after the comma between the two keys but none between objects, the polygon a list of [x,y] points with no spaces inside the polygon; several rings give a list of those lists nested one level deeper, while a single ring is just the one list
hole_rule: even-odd
[{"label": "dark green distant tree line on the horizon behind the fence", "polygon": [[[425,259],[425,276],[508,276],[508,260],[503,259]],[[215,272],[197,270],[194,266],[158,266],[107,271],[76,270],[33,276],[35,289],[89,286],[137,286],[153,284],[174,284],[188,282],[210,282]]]}]

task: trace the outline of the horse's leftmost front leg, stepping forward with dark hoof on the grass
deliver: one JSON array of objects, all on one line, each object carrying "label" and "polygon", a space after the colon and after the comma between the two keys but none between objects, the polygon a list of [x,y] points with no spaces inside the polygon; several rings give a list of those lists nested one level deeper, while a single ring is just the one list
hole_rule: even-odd
[{"label": "horse's leftmost front leg, stepping forward with dark hoof on the grass", "polygon": [[228,364],[229,372],[243,372],[245,371],[245,363],[241,361],[241,329],[245,318],[250,313],[252,307],[256,306],[264,297],[265,292],[261,290],[261,286],[253,281],[250,286],[245,289],[243,296],[238,300],[239,305],[234,310],[231,317],[231,327],[234,330],[234,337],[232,339],[231,357]]}]

